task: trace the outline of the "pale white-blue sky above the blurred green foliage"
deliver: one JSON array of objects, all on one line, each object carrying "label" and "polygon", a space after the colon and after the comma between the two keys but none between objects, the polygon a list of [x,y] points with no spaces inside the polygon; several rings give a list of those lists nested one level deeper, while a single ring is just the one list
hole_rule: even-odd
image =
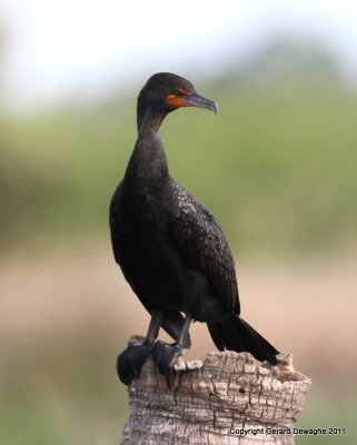
[{"label": "pale white-blue sky above the blurred green foliage", "polygon": [[215,76],[275,36],[321,41],[357,75],[357,0],[0,0],[1,89],[26,109],[98,98],[156,71]]}]

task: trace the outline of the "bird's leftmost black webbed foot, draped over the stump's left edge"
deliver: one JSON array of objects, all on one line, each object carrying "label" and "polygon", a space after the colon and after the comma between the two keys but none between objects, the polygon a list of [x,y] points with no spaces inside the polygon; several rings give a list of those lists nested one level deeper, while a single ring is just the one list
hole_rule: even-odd
[{"label": "bird's leftmost black webbed foot, draped over the stump's left edge", "polygon": [[142,366],[147,362],[152,349],[152,345],[135,344],[129,345],[117,358],[117,373],[125,385],[141,373]]}]

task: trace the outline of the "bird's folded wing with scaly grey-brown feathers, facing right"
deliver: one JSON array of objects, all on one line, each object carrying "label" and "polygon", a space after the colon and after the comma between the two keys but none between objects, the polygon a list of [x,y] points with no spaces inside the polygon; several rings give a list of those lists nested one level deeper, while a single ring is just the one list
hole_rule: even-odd
[{"label": "bird's folded wing with scaly grey-brown feathers, facing right", "polygon": [[215,217],[171,179],[171,231],[185,261],[201,271],[225,306],[240,313],[235,260]]}]

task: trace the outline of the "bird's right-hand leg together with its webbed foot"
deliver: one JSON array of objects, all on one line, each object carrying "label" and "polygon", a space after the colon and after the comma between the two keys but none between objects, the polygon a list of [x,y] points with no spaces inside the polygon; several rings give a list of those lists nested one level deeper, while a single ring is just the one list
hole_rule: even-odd
[{"label": "bird's right-hand leg together with its webbed foot", "polygon": [[182,354],[185,339],[187,338],[191,323],[192,316],[187,314],[178,340],[172,345],[157,342],[152,348],[152,358],[159,372],[166,376],[166,383],[169,389],[171,389],[173,366],[178,357]]}]

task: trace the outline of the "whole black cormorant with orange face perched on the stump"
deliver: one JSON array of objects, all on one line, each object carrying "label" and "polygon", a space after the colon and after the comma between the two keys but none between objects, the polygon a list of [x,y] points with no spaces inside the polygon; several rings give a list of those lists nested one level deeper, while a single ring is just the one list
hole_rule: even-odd
[{"label": "whole black cormorant with orange face perched on the stump", "polygon": [[[169,175],[159,128],[180,107],[217,112],[214,101],[177,75],[160,72],[147,81],[138,97],[138,139],[110,205],[115,258],[151,315],[146,342],[118,357],[126,384],[152,354],[170,385],[176,359],[190,346],[192,320],[207,323],[219,350],[249,352],[270,364],[279,354],[239,316],[235,261],[219,224]],[[155,343],[160,327],[172,345]]]}]

